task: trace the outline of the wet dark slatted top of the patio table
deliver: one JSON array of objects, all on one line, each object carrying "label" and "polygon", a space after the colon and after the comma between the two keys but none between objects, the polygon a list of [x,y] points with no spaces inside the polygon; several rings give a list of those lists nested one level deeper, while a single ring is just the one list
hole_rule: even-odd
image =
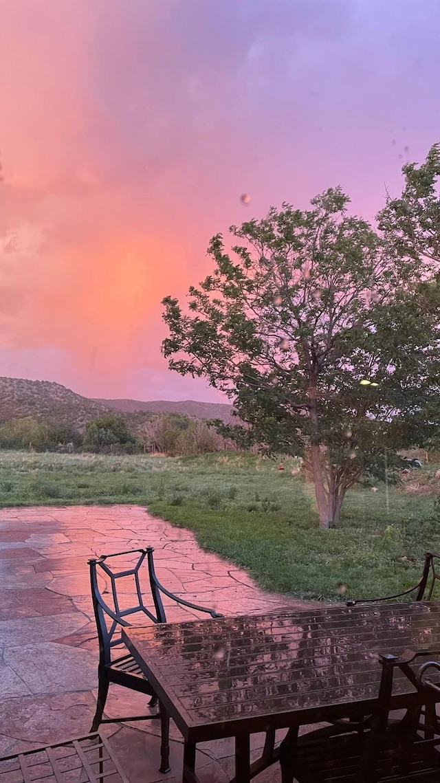
[{"label": "wet dark slatted top of the patio table", "polygon": [[[201,742],[367,713],[378,653],[440,649],[440,602],[171,622],[123,638],[184,738]],[[395,678],[396,708],[411,687]]]}]

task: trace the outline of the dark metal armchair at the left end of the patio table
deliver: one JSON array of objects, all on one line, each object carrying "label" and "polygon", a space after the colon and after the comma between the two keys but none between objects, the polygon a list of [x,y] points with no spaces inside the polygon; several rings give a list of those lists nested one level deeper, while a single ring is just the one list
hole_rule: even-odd
[{"label": "dark metal armchair at the left end of the patio table", "polygon": [[[133,555],[137,557],[133,558]],[[116,568],[110,568],[108,561],[115,561],[115,564],[117,564],[117,558],[123,561],[121,567],[117,568],[116,565]],[[134,564],[127,562],[133,559],[135,559]],[[90,567],[92,602],[99,640],[98,698],[91,731],[96,731],[100,723],[157,720],[160,718],[160,772],[169,772],[169,716],[162,705],[159,705],[159,713],[103,719],[110,683],[150,696],[149,706],[154,707],[157,705],[157,696],[154,693],[153,686],[142,674],[135,659],[122,642],[121,626],[132,625],[126,618],[128,616],[131,618],[135,614],[142,615],[142,621],[145,618],[150,620],[150,622],[167,622],[161,594],[164,594],[177,604],[182,604],[182,606],[195,609],[198,612],[207,612],[213,618],[222,617],[222,615],[219,615],[214,609],[186,601],[161,585],[154,570],[153,547],[127,550],[115,554],[104,554],[101,557],[88,560],[88,565]],[[143,568],[141,568],[142,566]],[[148,593],[142,591],[141,576],[143,572],[147,572],[146,581],[148,593],[150,594],[150,608],[146,605],[146,595]],[[102,591],[99,589],[98,574],[103,576],[104,579],[105,577],[110,579],[110,590]],[[125,605],[127,595],[125,595],[125,600],[124,598],[121,600],[121,590],[118,593],[117,589],[117,581],[126,577],[131,578],[130,585],[135,601],[135,604],[132,606]],[[109,606],[108,599],[103,597],[104,594],[109,594],[112,606]]]}]

